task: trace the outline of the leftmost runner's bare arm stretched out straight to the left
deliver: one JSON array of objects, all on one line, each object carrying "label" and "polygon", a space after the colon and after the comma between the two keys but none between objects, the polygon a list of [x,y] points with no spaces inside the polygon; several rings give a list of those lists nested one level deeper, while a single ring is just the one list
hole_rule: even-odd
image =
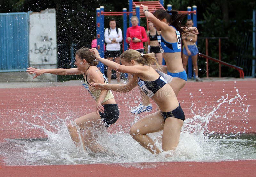
[{"label": "leftmost runner's bare arm stretched out straight to the left", "polygon": [[79,71],[77,68],[70,68],[70,69],[36,69],[29,67],[26,70],[28,74],[36,74],[33,78],[35,79],[37,76],[41,74],[55,74],[55,75],[80,75],[84,74],[82,71]]}]

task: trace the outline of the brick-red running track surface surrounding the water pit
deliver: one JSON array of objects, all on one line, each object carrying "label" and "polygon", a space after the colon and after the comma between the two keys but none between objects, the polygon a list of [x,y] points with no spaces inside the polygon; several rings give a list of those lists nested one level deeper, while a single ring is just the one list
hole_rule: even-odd
[{"label": "brick-red running track surface surrounding the water pit", "polygon": [[[233,101],[223,103],[209,118],[208,130],[218,133],[255,133],[256,80],[188,82],[180,91],[178,100],[185,112],[186,118],[195,115],[206,116],[217,108],[223,99]],[[238,93],[237,91],[238,90]],[[115,93],[115,99],[120,107],[120,118],[108,131],[118,131],[118,125],[127,132],[134,114],[130,107],[138,103],[139,92],[134,89],[127,94]],[[40,129],[28,129],[24,121],[45,126],[56,131],[44,118],[76,119],[94,111],[94,101],[82,86],[42,87],[42,88],[9,88],[0,89],[0,142],[4,138],[38,138],[46,135]],[[218,101],[219,100],[219,101]],[[225,101],[227,101],[225,100]],[[153,104],[156,110],[156,104]],[[193,112],[192,112],[193,111]],[[140,118],[147,113],[140,114]],[[92,164],[92,165],[49,165],[49,166],[3,166],[0,176],[16,176],[22,172],[24,176],[56,176],[64,174],[72,176],[252,176],[255,173],[255,160],[228,162],[166,162],[138,164]],[[141,167],[142,165],[142,167]],[[143,167],[143,165],[146,165]],[[137,166],[140,166],[139,168]],[[240,168],[241,167],[241,168]],[[142,169],[141,169],[142,168]],[[72,169],[72,170],[71,170]],[[97,170],[96,170],[97,169]],[[20,173],[19,173],[20,174]],[[8,176],[8,175],[7,175]]]}]

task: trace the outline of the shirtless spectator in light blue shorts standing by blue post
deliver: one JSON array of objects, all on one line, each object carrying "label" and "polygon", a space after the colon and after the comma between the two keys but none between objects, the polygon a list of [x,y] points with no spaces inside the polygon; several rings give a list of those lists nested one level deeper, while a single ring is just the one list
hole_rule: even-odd
[{"label": "shirtless spectator in light blue shorts standing by blue post", "polygon": [[[187,26],[193,27],[193,21],[187,20]],[[195,72],[195,81],[202,82],[203,80],[198,77],[198,66],[197,66],[197,58],[198,58],[198,48],[196,46],[197,35],[193,33],[188,33],[184,37],[182,37],[183,42],[183,55],[182,55],[182,62],[183,68],[187,70],[188,58],[192,58],[193,63],[193,70]]]}]

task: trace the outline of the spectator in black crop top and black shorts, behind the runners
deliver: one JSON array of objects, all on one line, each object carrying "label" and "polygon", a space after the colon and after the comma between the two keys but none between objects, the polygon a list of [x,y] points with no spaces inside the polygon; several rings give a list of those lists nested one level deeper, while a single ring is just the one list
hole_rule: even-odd
[{"label": "spectator in black crop top and black shorts, behind the runners", "polygon": [[[158,40],[157,40],[157,36],[160,36],[160,32],[159,31],[156,31],[156,28],[153,26],[153,23],[152,22],[148,22],[148,31],[147,31],[147,36],[149,37],[149,52],[150,53],[155,53],[156,54],[156,59],[158,61],[158,64],[159,65],[162,65],[163,64],[163,55],[160,51],[160,47],[159,47],[159,44],[158,44]],[[148,42],[145,42],[146,44],[146,51],[148,50]]]}]

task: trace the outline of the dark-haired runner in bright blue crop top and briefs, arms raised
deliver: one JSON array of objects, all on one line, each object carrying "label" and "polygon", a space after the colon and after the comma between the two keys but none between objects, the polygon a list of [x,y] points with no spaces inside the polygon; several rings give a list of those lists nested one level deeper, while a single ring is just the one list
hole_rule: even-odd
[{"label": "dark-haired runner in bright blue crop top and briefs, arms raised", "polygon": [[148,11],[147,6],[141,6],[146,18],[154,24],[157,31],[161,31],[161,35],[158,36],[158,43],[166,62],[167,73],[173,77],[170,85],[177,96],[187,81],[187,74],[181,58],[181,36],[187,32],[197,35],[199,34],[198,30],[196,27],[181,25],[180,22],[186,14],[180,14],[174,10],[165,11],[164,9],[158,9],[152,14]]}]

